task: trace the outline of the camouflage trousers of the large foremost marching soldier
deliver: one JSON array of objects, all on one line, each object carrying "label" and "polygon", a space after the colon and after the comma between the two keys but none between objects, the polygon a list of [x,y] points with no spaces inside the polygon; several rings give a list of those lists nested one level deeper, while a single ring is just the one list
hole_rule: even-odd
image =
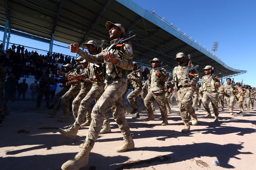
[{"label": "camouflage trousers of the large foremost marching soldier", "polygon": [[103,125],[103,115],[110,108],[113,112],[113,118],[123,136],[129,136],[131,134],[130,127],[124,116],[122,103],[122,94],[124,94],[126,88],[126,82],[115,81],[106,84],[105,91],[92,109],[92,121],[85,139],[85,142],[89,143],[90,146],[93,146],[98,138]]}]

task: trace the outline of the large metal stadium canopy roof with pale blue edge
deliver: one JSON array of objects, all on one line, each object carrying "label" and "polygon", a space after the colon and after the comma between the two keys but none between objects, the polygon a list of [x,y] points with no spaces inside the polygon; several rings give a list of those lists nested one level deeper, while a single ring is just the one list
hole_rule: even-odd
[{"label": "large metal stadium canopy roof with pale blue edge", "polygon": [[[192,64],[202,68],[212,65],[220,77],[239,75],[246,70],[236,70],[211,54],[175,27],[141,8],[131,0],[5,0],[0,1],[0,25],[9,20],[8,32],[15,30],[36,35],[50,43],[55,41],[77,43],[94,40],[98,44],[110,42],[107,21],[121,23],[126,33],[133,30],[137,37],[132,41],[136,62],[149,64],[152,58],[164,61],[167,70],[177,66],[174,59],[178,52],[191,54]],[[1,28],[3,30],[3,28]],[[15,30],[12,30],[15,29]],[[42,39],[41,39],[42,40]]]}]

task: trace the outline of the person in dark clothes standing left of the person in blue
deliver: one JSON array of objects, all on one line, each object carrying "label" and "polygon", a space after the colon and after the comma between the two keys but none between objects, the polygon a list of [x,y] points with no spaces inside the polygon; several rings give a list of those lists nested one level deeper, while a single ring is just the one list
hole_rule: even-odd
[{"label": "person in dark clothes standing left of the person in blue", "polygon": [[36,109],[40,108],[41,101],[45,97],[46,107],[50,104],[50,77],[49,73],[44,71],[43,76],[39,80],[39,91],[37,94]]}]

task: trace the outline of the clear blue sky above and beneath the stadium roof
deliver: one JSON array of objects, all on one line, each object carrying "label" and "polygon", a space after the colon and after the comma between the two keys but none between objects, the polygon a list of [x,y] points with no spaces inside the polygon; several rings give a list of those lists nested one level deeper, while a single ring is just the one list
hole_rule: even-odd
[{"label": "clear blue sky above and beneath the stadium roof", "polygon": [[[256,1],[238,0],[133,0],[145,10],[155,11],[180,31],[201,43],[207,49],[212,41],[219,41],[215,54],[228,66],[247,70],[247,73],[235,76],[235,81],[256,86]],[[254,11],[254,12],[253,12]],[[0,32],[3,37],[3,32]],[[2,39],[1,39],[2,40]],[[49,45],[39,41],[11,35],[10,42],[48,50]],[[67,44],[54,42],[62,46]],[[67,48],[53,46],[53,51],[67,55]]]}]

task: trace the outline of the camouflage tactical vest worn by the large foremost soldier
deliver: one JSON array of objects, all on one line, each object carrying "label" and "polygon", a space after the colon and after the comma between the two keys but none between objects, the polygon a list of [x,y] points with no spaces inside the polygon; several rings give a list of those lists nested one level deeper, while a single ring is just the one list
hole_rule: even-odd
[{"label": "camouflage tactical vest worn by the large foremost soldier", "polygon": [[[109,47],[107,47],[104,51],[108,51],[108,48]],[[116,57],[117,60],[123,60],[123,56],[119,53],[118,50],[116,51],[116,55],[117,55],[117,57]],[[105,76],[104,68],[106,68],[108,76],[111,77],[112,79],[124,78],[128,74],[128,70],[124,70],[124,69],[118,67],[114,63],[105,62],[102,64],[102,75],[103,76]]]}]

